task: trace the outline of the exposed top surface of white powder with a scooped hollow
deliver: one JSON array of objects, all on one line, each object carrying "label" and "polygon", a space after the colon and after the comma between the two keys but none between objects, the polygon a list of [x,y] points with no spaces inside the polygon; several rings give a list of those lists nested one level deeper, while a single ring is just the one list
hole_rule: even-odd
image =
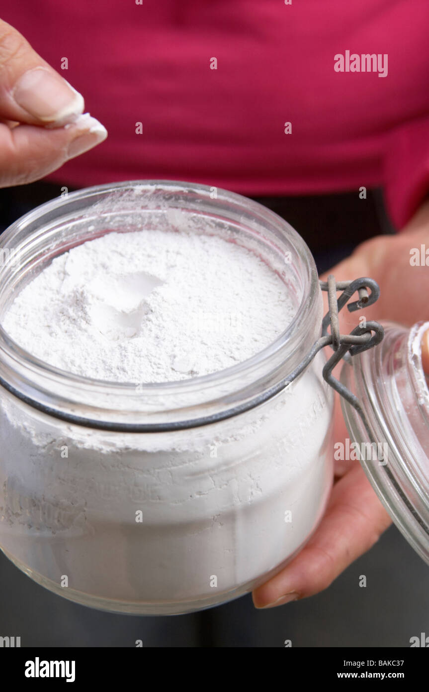
[{"label": "exposed top surface of white powder with a scooped hollow", "polygon": [[3,327],[66,372],[153,383],[245,361],[294,313],[280,277],[247,249],[142,230],[108,233],[56,257],[17,295]]}]

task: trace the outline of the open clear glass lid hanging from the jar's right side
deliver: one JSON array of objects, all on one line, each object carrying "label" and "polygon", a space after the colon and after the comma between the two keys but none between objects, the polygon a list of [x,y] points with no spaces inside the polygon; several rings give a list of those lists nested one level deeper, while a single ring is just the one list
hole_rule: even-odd
[{"label": "open clear glass lid hanging from the jar's right side", "polygon": [[429,564],[429,388],[421,344],[429,322],[411,329],[382,322],[383,341],[344,363],[341,382],[359,399],[341,397],[356,455],[392,520]]}]

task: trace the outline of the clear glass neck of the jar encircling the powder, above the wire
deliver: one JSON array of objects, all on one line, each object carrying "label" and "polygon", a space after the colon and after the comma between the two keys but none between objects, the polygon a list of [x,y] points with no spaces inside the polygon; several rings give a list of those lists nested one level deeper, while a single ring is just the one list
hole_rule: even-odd
[{"label": "clear glass neck of the jar encircling the powder, above the wire", "polygon": [[[173,230],[189,219],[262,257],[296,298],[292,322],[247,361],[192,379],[163,383],[112,383],[58,370],[21,349],[0,327],[3,387],[27,403],[64,416],[84,406],[82,419],[100,424],[162,424],[225,413],[258,401],[293,370],[320,332],[321,293],[314,260],[286,221],[240,195],[191,183],[131,181],[101,185],[54,199],[21,217],[3,233],[0,249],[13,248],[19,262],[0,269],[0,318],[12,296],[53,257],[109,232],[132,233],[168,217]],[[272,395],[272,394],[271,394]],[[255,403],[257,405],[257,403]],[[198,409],[198,416],[196,412]],[[150,419],[150,420],[149,420]],[[153,422],[152,422],[153,421]]]}]

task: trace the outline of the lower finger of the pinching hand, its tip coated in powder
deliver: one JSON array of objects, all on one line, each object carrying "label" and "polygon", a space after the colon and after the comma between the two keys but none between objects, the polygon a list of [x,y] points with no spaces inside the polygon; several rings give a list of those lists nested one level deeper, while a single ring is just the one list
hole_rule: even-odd
[{"label": "lower finger of the pinching hand, its tip coated in powder", "polygon": [[102,142],[106,129],[88,113],[65,127],[0,125],[0,188],[31,183]]}]

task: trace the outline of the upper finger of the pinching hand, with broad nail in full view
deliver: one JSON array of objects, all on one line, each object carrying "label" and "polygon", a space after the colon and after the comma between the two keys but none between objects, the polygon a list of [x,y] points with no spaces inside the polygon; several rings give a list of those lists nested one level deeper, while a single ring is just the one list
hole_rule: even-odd
[{"label": "upper finger of the pinching hand, with broad nail in full view", "polygon": [[83,111],[82,95],[0,20],[0,120],[59,127]]}]

